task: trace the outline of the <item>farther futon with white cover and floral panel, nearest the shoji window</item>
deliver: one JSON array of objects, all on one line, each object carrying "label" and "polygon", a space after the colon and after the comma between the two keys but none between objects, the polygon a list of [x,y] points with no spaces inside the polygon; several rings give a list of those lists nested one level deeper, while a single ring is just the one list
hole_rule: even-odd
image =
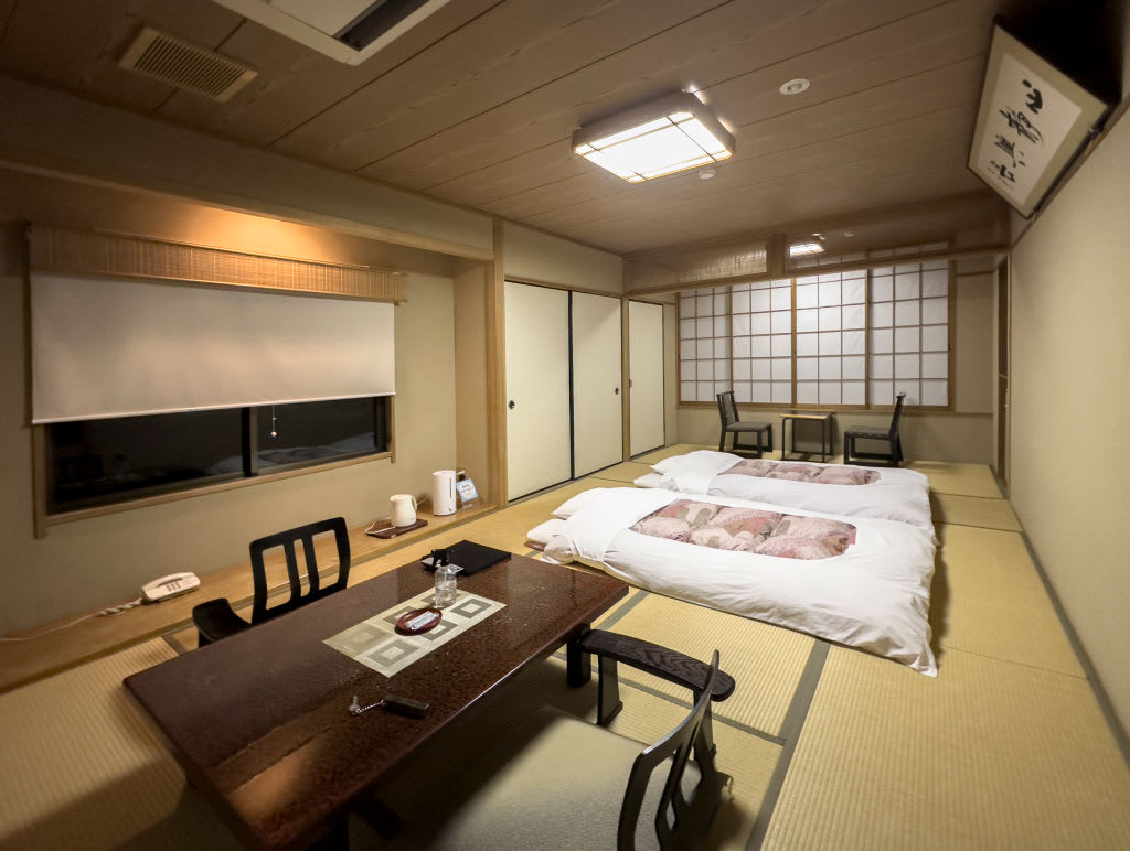
[{"label": "farther futon with white cover and floral panel, nearest the shoji window", "polygon": [[933,532],[929,482],[913,470],[749,459],[710,449],[675,455],[652,470],[635,484],[899,520]]}]

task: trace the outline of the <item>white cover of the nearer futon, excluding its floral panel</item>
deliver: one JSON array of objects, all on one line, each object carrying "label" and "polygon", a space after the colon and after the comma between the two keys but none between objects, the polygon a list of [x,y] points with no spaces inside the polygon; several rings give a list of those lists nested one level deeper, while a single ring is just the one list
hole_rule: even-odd
[{"label": "white cover of the nearer futon, excluding its floral panel", "polygon": [[[594,489],[531,529],[558,562],[580,561],[659,594],[754,617],[868,650],[937,675],[930,648],[931,533],[895,520],[834,516],[855,542],[829,559],[783,559],[715,550],[642,535],[631,526],[687,494],[634,488]],[[705,502],[779,511],[779,506],[697,495]],[[560,515],[567,515],[563,518]]]}]

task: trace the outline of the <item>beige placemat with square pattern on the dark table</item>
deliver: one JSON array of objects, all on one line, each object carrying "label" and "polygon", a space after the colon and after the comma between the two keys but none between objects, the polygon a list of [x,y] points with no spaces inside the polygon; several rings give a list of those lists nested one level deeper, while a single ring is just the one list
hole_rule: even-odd
[{"label": "beige placemat with square pattern on the dark table", "polygon": [[432,605],[434,590],[424,591],[399,603],[337,635],[331,635],[322,643],[345,653],[366,668],[372,668],[377,674],[391,677],[506,606],[505,603],[462,589],[457,589],[457,595],[454,603],[441,609],[443,620],[420,635],[401,635],[395,629],[397,621],[414,608],[427,608]]}]

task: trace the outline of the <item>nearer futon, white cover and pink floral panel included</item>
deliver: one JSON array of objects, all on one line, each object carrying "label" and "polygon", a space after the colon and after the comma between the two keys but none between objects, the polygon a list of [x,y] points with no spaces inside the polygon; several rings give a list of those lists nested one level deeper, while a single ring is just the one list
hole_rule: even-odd
[{"label": "nearer futon, white cover and pink floral panel included", "polygon": [[[634,488],[585,491],[554,515],[529,533],[554,561],[580,561],[659,594],[937,674],[927,620],[935,539],[927,529]],[[724,535],[746,539],[727,546]]]}]

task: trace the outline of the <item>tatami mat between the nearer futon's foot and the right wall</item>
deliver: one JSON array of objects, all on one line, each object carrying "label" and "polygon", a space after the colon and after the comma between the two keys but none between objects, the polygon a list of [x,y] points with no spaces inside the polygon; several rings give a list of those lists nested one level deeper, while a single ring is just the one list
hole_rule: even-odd
[{"label": "tatami mat between the nearer futon's foot and the right wall", "polygon": [[938,527],[941,568],[930,621],[944,652],[1084,676],[1020,535],[972,526]]}]

